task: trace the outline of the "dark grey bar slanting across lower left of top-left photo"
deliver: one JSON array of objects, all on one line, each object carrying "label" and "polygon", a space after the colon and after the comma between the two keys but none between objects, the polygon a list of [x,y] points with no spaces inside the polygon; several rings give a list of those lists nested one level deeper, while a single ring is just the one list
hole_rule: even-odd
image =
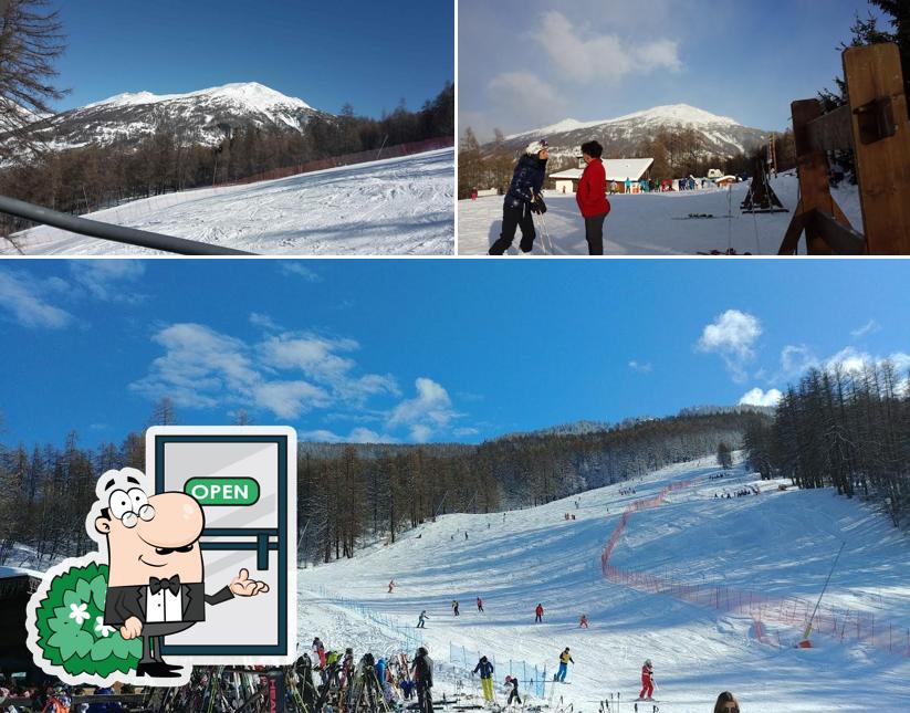
[{"label": "dark grey bar slanting across lower left of top-left photo", "polygon": [[[137,245],[139,248],[151,248],[153,250],[163,250],[165,252],[172,252],[178,255],[252,255],[253,253],[244,252],[242,250],[234,250],[233,248],[222,248],[211,243],[199,242],[196,240],[187,240],[185,238],[175,238],[174,235],[163,235],[160,233],[153,233],[147,230],[137,230],[136,228],[127,228],[126,226],[114,226],[112,223],[103,223],[97,220],[88,220],[87,218],[79,218],[77,216],[70,216],[61,213],[57,210],[51,210],[42,206],[10,198],[8,196],[0,196],[0,212],[23,218],[36,223],[52,226],[61,230],[79,233],[80,235],[88,235],[90,238],[98,238],[100,240],[112,240],[114,242],[125,243],[127,245]],[[12,242],[12,241],[10,241]],[[13,243],[15,245],[15,243]]]}]

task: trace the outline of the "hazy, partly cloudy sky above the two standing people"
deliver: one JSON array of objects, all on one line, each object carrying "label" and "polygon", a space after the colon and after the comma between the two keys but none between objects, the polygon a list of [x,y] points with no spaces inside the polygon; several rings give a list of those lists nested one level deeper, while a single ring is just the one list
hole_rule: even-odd
[{"label": "hazy, partly cloudy sky above the two standing people", "polygon": [[[784,129],[866,0],[460,0],[459,127],[482,138],[691,104]],[[623,57],[626,57],[627,63]]]}]

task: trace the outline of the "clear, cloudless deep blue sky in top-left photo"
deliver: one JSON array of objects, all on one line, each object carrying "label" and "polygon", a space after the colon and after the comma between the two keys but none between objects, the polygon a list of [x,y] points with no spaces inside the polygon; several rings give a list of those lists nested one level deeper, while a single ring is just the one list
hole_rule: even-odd
[{"label": "clear, cloudless deep blue sky in top-left photo", "polygon": [[60,109],[123,92],[259,82],[316,108],[420,108],[454,80],[451,2],[52,0],[69,48]]}]

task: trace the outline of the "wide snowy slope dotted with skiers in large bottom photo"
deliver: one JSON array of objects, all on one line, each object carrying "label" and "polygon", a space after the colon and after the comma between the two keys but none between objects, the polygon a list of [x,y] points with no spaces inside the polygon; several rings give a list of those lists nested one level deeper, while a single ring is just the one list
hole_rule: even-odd
[{"label": "wide snowy slope dotted with skiers in large bottom photo", "polygon": [[[691,583],[763,590],[776,596],[817,597],[840,542],[847,547],[826,604],[875,612],[898,629],[910,627],[910,542],[868,506],[829,490],[778,491],[738,466],[732,478],[709,481],[711,460],[677,465],[636,482],[584,493],[574,500],[503,515],[447,515],[394,545],[378,544],[352,560],[301,570],[300,640],[320,636],[332,647],[388,652],[395,631],[339,606],[346,597],[412,627],[421,609],[430,619],[425,641],[437,665],[450,644],[494,656],[501,686],[502,662],[523,659],[547,664],[568,646],[576,665],[558,696],[575,713],[596,713],[597,701],[619,692],[620,711],[631,713],[641,663],[655,663],[660,711],[711,711],[720,691],[733,691],[744,713],[813,711],[910,711],[910,656],[813,637],[815,648],[796,649],[801,632],[777,625],[755,637],[746,616],[719,612],[666,595],[649,595],[608,583],[600,554],[624,507],[656,495],[669,483],[692,487],[669,494],[660,507],[636,513],[611,564]],[[761,495],[714,499],[745,484]],[[566,521],[564,513],[574,513]],[[469,538],[464,538],[464,532]],[[398,588],[387,594],[389,579]],[[323,594],[325,596],[323,596]],[[474,599],[484,599],[485,614]],[[450,604],[458,599],[461,616]],[[542,602],[544,622],[534,623]],[[589,630],[578,629],[587,614]],[[906,644],[904,644],[906,646]],[[441,690],[457,679],[440,675]],[[439,691],[438,691],[439,693]],[[500,702],[504,702],[499,693]],[[555,701],[554,701],[555,704]],[[651,712],[651,706],[639,711]]]}]

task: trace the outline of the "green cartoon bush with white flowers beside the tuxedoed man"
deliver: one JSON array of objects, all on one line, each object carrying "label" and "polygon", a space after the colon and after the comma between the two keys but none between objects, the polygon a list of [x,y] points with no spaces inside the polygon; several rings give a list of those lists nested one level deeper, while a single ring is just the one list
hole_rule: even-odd
[{"label": "green cartoon bush with white flowers beside the tuxedoed man", "polygon": [[73,567],[51,580],[35,611],[38,646],[44,658],[71,675],[107,677],[135,670],[142,639],[126,641],[104,626],[107,565]]}]

